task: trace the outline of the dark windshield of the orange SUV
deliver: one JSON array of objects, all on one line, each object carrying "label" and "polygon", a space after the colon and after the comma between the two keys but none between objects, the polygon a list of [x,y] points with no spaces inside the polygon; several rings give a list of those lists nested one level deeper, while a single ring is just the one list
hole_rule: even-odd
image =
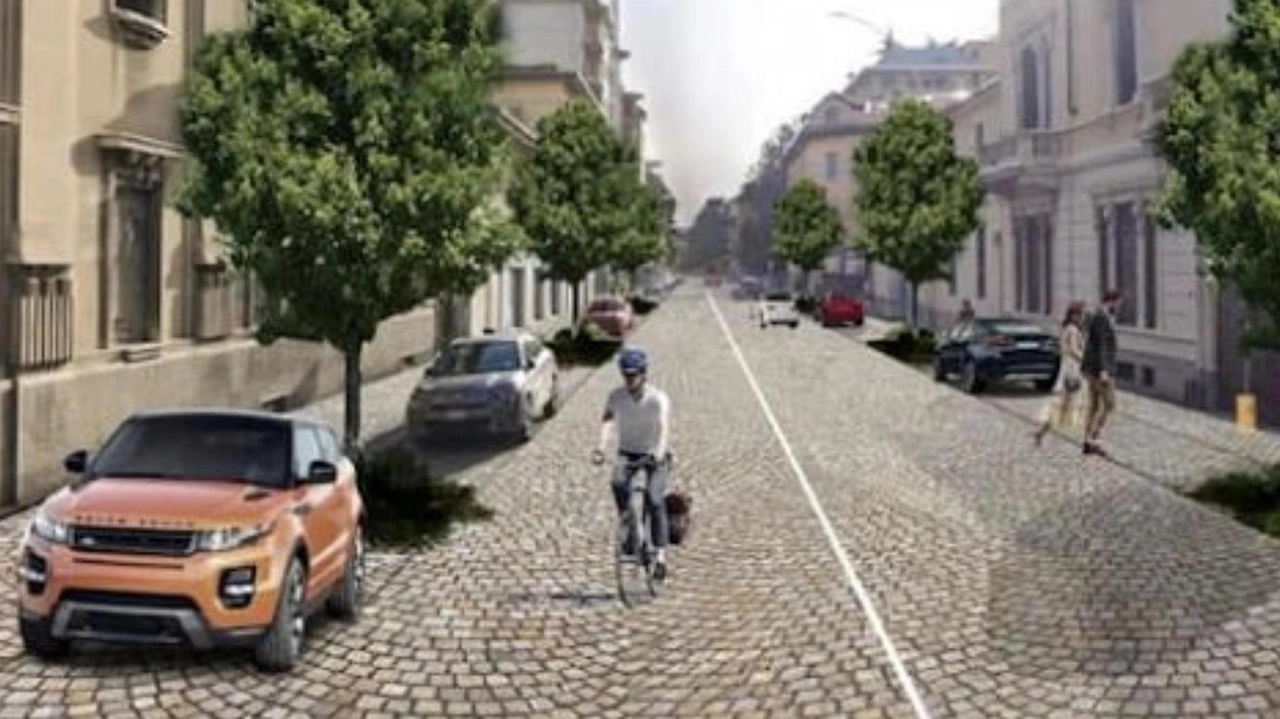
[{"label": "dark windshield of the orange SUV", "polygon": [[136,417],[93,459],[99,477],[229,480],[284,486],[289,425],[216,415]]}]

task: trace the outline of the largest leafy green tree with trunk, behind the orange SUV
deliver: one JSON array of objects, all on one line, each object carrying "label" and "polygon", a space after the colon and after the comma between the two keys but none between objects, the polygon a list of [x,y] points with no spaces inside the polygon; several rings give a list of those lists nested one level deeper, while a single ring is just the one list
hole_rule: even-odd
[{"label": "largest leafy green tree with trunk, behind the orange SUV", "polygon": [[349,448],[379,324],[511,251],[485,212],[506,155],[499,29],[486,0],[273,0],[196,56],[180,206],[261,284],[260,342],[342,352]]}]

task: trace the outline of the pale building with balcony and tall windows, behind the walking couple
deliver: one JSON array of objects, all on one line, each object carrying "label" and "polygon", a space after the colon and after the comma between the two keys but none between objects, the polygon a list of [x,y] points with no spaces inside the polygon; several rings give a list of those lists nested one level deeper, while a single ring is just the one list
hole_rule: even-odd
[{"label": "pale building with balcony and tall windows, behind the walking couple", "polygon": [[954,287],[927,290],[934,324],[964,298],[1051,324],[1068,302],[1116,288],[1126,297],[1121,383],[1196,406],[1229,398],[1240,367],[1220,320],[1231,307],[1201,279],[1194,237],[1149,214],[1165,178],[1149,138],[1179,52],[1225,35],[1230,8],[1001,3],[1000,81],[951,110],[957,146],[982,165],[986,224],[957,257]]}]

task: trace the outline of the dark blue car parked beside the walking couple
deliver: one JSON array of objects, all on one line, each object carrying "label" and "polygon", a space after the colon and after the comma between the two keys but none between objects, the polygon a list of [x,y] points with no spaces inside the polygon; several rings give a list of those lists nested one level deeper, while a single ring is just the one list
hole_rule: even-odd
[{"label": "dark blue car parked beside the walking couple", "polygon": [[1057,380],[1061,351],[1052,333],[1016,317],[979,317],[938,336],[933,376],[977,394],[988,385],[1030,381],[1050,391]]}]

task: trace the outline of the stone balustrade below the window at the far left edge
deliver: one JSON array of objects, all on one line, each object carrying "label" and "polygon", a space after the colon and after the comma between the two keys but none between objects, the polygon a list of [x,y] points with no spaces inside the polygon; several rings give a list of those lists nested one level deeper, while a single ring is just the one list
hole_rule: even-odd
[{"label": "stone balustrade below the window at the far left edge", "polygon": [[15,265],[14,342],[10,361],[19,370],[45,370],[72,358],[74,308],[65,265]]}]

